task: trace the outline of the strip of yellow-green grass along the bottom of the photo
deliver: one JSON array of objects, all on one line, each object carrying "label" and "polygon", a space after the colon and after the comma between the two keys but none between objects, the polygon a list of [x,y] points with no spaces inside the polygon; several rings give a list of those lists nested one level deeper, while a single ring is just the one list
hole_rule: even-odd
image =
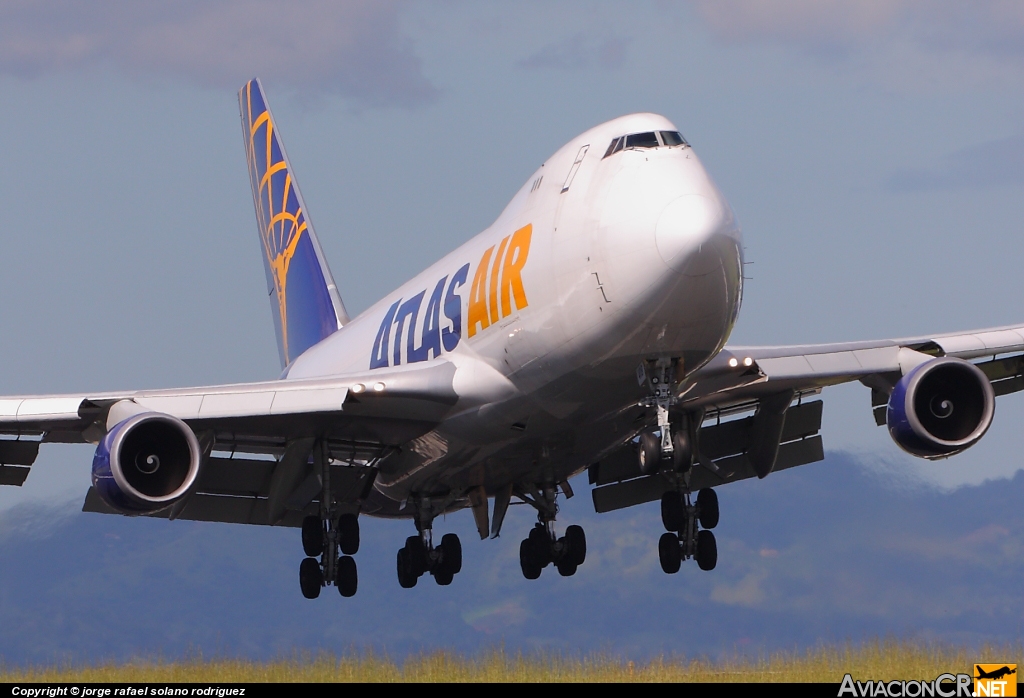
[{"label": "strip of yellow-green grass along the bottom of the photo", "polygon": [[0,671],[3,682],[831,682],[854,679],[933,680],[970,672],[979,662],[1024,664],[1021,647],[986,647],[978,652],[943,645],[880,641],[859,646],[820,647],[763,658],[712,661],[660,658],[629,661],[592,655],[509,654],[476,657],[432,652],[394,661],[352,653],[257,662],[241,659],[135,661],[91,666],[52,666]]}]

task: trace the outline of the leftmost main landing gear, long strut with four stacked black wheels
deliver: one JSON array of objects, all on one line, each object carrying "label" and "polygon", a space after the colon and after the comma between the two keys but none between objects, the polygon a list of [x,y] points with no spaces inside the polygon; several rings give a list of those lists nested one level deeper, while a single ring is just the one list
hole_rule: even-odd
[{"label": "leftmost main landing gear, long strut with four stacked black wheels", "polygon": [[315,599],[321,588],[332,583],[341,596],[352,597],[358,587],[358,572],[351,556],[359,551],[359,520],[351,512],[338,511],[331,493],[331,461],[325,443],[317,442],[313,447],[313,463],[321,473],[321,506],[318,515],[302,520],[306,559],[299,565],[299,586],[306,599]]}]

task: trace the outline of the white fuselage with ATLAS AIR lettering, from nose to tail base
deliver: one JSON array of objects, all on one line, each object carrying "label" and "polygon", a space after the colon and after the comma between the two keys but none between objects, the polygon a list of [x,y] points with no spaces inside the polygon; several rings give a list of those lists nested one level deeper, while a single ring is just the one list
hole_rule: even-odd
[{"label": "white fuselage with ATLAS AIR lettering, from nose to tail base", "polygon": [[457,384],[462,374],[494,385],[385,459],[366,513],[397,515],[410,495],[563,481],[648,426],[643,361],[677,358],[688,374],[724,346],[742,246],[693,149],[602,157],[618,136],[662,130],[676,127],[637,114],[573,139],[490,227],[290,366],[298,379],[449,360]]}]

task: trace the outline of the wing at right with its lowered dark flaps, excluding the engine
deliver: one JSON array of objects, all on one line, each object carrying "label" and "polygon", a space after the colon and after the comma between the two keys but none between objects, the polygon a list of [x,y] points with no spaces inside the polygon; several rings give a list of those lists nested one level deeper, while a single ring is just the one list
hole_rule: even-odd
[{"label": "wing at right with its lowered dark flaps, excluding the engine", "polygon": [[[691,487],[713,487],[824,459],[818,431],[821,389],[859,381],[871,391],[877,425],[889,396],[918,365],[949,356],[976,365],[995,396],[1024,390],[1024,325],[893,340],[795,346],[727,346],[682,385],[679,403],[703,410],[699,466]],[[753,412],[749,417],[726,419]],[[771,413],[777,419],[772,420]],[[774,423],[774,431],[766,424]],[[759,443],[772,432],[772,442]],[[767,451],[768,455],[765,454]],[[598,512],[653,501],[675,487],[662,474],[642,475],[632,443],[590,467]]]}]

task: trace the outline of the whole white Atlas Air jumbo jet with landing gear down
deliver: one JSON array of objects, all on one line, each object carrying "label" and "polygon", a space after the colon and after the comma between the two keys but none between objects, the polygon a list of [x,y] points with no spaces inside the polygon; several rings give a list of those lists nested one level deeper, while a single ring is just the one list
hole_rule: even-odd
[{"label": "whole white Atlas Air jumbo jet with landing gear down", "polygon": [[303,596],[356,593],[361,516],[409,519],[399,585],[462,569],[438,515],[497,538],[536,525],[523,576],[571,576],[559,499],[660,503],[665,572],[715,568],[718,488],[824,457],[823,388],[860,382],[898,446],[944,459],[1024,388],[1024,325],[895,340],[732,346],[743,246],[668,119],[632,114],[545,161],[495,222],[350,317],[258,79],[239,93],[282,373],[255,383],[0,398],[0,483],[40,445],[95,445],[83,511],[301,530]]}]

